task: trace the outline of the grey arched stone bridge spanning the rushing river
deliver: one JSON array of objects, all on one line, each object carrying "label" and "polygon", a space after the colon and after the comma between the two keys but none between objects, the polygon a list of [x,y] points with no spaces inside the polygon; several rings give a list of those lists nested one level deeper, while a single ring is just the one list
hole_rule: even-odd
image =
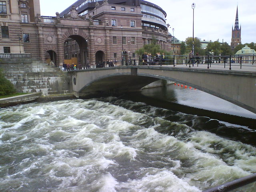
[{"label": "grey arched stone bridge spanning the rushing river", "polygon": [[121,66],[72,71],[73,93],[128,92],[159,79],[192,86],[256,113],[256,73],[164,66]]}]

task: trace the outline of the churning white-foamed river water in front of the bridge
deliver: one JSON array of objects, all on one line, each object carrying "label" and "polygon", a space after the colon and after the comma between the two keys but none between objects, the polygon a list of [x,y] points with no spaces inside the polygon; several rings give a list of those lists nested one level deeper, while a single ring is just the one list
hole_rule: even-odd
[{"label": "churning white-foamed river water in front of the bridge", "polygon": [[214,126],[255,136],[116,97],[2,108],[0,191],[201,192],[255,173],[254,144],[218,136]]}]

